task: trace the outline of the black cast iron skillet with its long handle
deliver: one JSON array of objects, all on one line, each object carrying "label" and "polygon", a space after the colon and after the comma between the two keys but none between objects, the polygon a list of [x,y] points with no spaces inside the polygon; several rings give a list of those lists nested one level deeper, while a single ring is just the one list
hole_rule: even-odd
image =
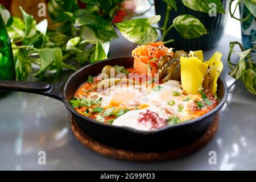
[{"label": "black cast iron skillet with its long handle", "polygon": [[60,100],[71,112],[81,130],[89,137],[109,146],[134,151],[163,151],[192,142],[207,129],[214,115],[224,105],[227,97],[226,84],[222,78],[218,78],[217,95],[219,101],[213,110],[191,121],[166,126],[156,131],[138,131],[129,127],[108,125],[77,113],[69,104],[69,100],[71,100],[77,88],[87,80],[89,75],[96,76],[101,73],[105,65],[117,64],[126,68],[133,67],[133,57],[117,57],[87,65],[73,73],[62,84],[49,85],[44,82],[0,81],[0,90],[36,93]]}]

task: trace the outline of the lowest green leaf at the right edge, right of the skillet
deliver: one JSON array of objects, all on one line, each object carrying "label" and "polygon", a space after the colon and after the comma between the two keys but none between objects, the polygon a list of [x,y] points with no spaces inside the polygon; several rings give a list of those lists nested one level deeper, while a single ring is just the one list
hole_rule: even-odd
[{"label": "lowest green leaf at the right edge, right of the skillet", "polygon": [[253,69],[247,69],[243,74],[243,84],[252,94],[256,95],[256,73]]}]

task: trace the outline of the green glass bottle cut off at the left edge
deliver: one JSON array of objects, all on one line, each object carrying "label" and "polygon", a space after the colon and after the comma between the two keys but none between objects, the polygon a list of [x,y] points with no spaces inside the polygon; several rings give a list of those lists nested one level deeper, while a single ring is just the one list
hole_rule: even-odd
[{"label": "green glass bottle cut off at the left edge", "polygon": [[13,50],[0,15],[0,80],[15,80]]}]

